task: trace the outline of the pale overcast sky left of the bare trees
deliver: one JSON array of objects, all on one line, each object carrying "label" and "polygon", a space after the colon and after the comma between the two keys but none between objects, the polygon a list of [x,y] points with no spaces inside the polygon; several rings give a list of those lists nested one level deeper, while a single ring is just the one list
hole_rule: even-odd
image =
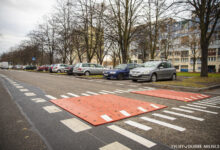
[{"label": "pale overcast sky left of the bare trees", "polygon": [[0,0],[0,54],[25,39],[56,0]]}]

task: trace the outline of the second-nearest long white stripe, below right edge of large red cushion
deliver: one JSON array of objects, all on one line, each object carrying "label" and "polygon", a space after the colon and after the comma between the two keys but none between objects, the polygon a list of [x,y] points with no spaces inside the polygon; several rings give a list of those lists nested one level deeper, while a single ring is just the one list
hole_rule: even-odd
[{"label": "second-nearest long white stripe, below right edge of large red cushion", "polygon": [[156,119],[148,118],[148,117],[141,117],[141,119],[149,121],[149,122],[153,122],[153,123],[156,123],[156,124],[159,124],[159,125],[162,125],[162,126],[165,126],[165,127],[177,130],[177,131],[181,131],[181,132],[186,130],[185,128],[182,128],[182,127],[170,124],[170,123],[166,123],[163,121],[159,121]]}]

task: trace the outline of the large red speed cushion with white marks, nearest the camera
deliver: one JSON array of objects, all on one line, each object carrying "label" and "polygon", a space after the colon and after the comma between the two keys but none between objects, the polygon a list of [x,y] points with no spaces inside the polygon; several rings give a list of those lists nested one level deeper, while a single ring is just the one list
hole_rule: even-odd
[{"label": "large red speed cushion with white marks, nearest the camera", "polygon": [[166,107],[112,94],[64,98],[51,102],[95,126]]}]

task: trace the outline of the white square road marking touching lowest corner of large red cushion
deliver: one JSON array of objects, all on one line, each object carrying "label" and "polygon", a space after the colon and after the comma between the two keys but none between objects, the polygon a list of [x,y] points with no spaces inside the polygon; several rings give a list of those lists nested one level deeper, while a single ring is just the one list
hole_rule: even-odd
[{"label": "white square road marking touching lowest corner of large red cushion", "polygon": [[70,128],[73,132],[81,132],[91,129],[89,125],[83,123],[82,121],[76,118],[61,120],[60,122],[63,123],[68,128]]}]

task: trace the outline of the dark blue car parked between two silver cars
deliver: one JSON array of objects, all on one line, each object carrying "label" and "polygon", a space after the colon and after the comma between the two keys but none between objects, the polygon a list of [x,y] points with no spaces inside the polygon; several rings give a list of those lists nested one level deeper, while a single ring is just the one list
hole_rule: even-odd
[{"label": "dark blue car parked between two silver cars", "polygon": [[134,69],[136,67],[140,67],[138,64],[120,64],[116,66],[112,70],[106,70],[103,72],[104,78],[106,79],[128,79],[129,78],[129,72],[131,69]]}]

